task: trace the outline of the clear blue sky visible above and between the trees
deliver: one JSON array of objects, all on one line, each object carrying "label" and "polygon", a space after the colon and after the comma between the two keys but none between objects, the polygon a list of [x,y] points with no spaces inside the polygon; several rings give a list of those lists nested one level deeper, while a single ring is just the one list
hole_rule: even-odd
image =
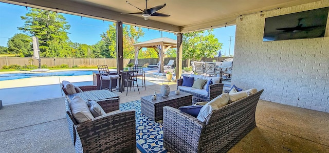
[{"label": "clear blue sky visible above and between the trees", "polygon": [[[30,8],[28,8],[30,9]],[[17,27],[22,27],[24,21],[21,16],[24,16],[28,11],[24,6],[12,5],[0,2],[0,46],[7,46],[7,41],[16,33],[23,33],[17,30]],[[61,13],[62,14],[62,13]],[[109,21],[102,21],[93,18],[62,14],[68,24],[71,25],[68,31],[68,37],[72,42],[86,43],[87,45],[94,45],[101,37],[100,34],[108,28],[109,24],[113,24]],[[142,38],[138,41],[147,41],[154,38],[161,37],[159,30],[142,28],[145,32]],[[218,41],[223,43],[222,55],[233,55],[234,52],[234,39],[235,39],[235,26],[228,26],[223,28],[216,28],[213,31]],[[162,32],[163,37],[169,37],[177,39],[173,33]],[[230,48],[230,36],[232,36],[231,48]]]}]

